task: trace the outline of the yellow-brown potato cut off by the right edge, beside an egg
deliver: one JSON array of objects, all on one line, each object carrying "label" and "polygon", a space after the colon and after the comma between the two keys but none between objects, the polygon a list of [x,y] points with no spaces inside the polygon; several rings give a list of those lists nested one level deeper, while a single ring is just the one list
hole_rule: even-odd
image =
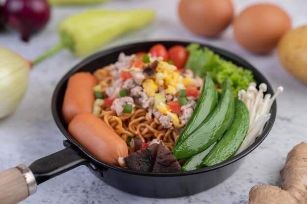
[{"label": "yellow-brown potato cut off by the right edge, beside an egg", "polygon": [[307,84],[307,26],[284,34],[278,44],[278,54],[286,70]]}]

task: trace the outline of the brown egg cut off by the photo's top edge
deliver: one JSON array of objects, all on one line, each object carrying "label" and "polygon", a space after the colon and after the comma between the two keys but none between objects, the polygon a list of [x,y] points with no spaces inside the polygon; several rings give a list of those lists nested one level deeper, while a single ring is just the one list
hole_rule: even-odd
[{"label": "brown egg cut off by the photo's top edge", "polygon": [[181,0],[179,16],[192,32],[216,37],[230,24],[233,5],[230,0]]}]

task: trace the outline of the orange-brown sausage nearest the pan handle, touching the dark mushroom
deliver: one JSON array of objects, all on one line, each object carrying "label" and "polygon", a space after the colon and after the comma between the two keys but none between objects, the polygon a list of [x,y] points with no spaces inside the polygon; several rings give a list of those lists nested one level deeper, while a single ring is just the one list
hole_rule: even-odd
[{"label": "orange-brown sausage nearest the pan handle, touching the dark mushroom", "polygon": [[78,114],[69,123],[68,132],[82,147],[103,162],[119,166],[118,158],[128,156],[126,142],[92,113]]}]

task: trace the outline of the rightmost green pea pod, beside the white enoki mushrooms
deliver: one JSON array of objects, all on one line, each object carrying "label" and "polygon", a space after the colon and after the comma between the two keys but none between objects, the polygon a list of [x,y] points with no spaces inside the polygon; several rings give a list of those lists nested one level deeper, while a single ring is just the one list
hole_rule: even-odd
[{"label": "rightmost green pea pod, beside the white enoki mushrooms", "polygon": [[230,127],[222,139],[208,153],[205,166],[212,166],[230,159],[240,148],[249,128],[250,114],[244,102],[237,100]]}]

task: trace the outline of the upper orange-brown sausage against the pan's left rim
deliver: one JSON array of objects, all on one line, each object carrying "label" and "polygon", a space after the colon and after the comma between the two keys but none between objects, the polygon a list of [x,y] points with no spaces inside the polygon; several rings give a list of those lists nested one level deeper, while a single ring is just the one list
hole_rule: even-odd
[{"label": "upper orange-brown sausage against the pan's left rim", "polygon": [[91,113],[95,101],[93,87],[96,78],[87,72],[79,72],[68,79],[62,106],[62,116],[69,123],[78,113]]}]

